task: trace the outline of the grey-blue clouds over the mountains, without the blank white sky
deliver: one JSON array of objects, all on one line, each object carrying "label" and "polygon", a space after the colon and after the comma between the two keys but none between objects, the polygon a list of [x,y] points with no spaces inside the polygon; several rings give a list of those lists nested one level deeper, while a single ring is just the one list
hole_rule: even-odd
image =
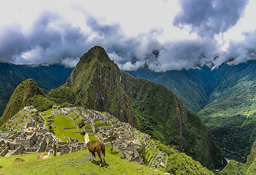
[{"label": "grey-blue clouds over the mountains, without the blank white sky", "polygon": [[240,40],[233,40],[233,37],[225,40],[226,33],[243,20],[244,11],[250,5],[249,1],[241,0],[234,1],[232,7],[230,3],[215,0],[181,1],[180,11],[172,14],[173,19],[168,19],[168,23],[173,25],[176,32],[186,29],[182,31],[188,38],[172,40],[161,39],[165,38],[167,31],[167,36],[175,36],[172,30],[164,30],[162,26],[129,36],[122,24],[103,22],[85,10],[87,7],[84,5],[73,6],[72,9],[83,16],[78,26],[66,21],[59,13],[43,10],[27,29],[20,23],[1,27],[0,60],[13,64],[61,63],[75,67],[84,50],[95,45],[104,47],[122,71],[148,67],[152,71],[162,72],[204,65],[218,67],[226,61],[236,65],[255,60],[255,29],[239,33]]}]

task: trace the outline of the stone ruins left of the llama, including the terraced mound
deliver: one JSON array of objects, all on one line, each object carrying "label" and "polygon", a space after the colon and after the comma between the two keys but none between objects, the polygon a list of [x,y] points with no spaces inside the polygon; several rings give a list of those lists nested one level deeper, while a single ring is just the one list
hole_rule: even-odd
[{"label": "stone ruins left of the llama, including the terraced mound", "polygon": [[[69,138],[70,142],[60,141],[46,131],[46,127],[38,116],[39,113],[33,106],[27,106],[20,112],[19,117],[14,116],[8,122],[6,126],[8,131],[0,131],[0,156],[47,152],[50,149],[53,150],[55,156],[61,156],[87,149],[85,143],[79,142],[77,139]],[[26,120],[26,124],[22,127],[18,126],[24,120]],[[12,123],[12,121],[16,122]]]}]

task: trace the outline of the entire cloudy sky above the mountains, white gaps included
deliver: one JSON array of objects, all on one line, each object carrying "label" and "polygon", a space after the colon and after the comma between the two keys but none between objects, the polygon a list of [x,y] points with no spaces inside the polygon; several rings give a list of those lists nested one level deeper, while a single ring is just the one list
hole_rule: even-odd
[{"label": "entire cloudy sky above the mountains, white gaps included", "polygon": [[0,0],[0,60],[74,67],[99,45],[122,70],[256,59],[254,0]]}]

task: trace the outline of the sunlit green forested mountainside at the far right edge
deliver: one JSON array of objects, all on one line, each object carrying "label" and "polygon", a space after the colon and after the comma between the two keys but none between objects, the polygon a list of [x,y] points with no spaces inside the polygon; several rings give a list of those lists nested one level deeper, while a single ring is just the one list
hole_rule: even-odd
[{"label": "sunlit green forested mountainside at the far right edge", "polygon": [[227,157],[243,163],[256,139],[255,69],[250,61],[216,70],[219,85],[199,112]]}]

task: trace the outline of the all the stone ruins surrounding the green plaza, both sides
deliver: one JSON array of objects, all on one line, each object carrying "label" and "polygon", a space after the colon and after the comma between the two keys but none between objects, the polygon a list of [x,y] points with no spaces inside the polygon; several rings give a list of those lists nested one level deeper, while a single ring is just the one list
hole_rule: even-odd
[{"label": "all the stone ruins surrounding the green plaza, both sides", "polygon": [[[85,121],[85,124],[91,125],[91,127],[89,127],[91,131],[87,130],[89,135],[95,135],[96,138],[105,143],[106,146],[111,145],[106,139],[108,139],[109,136],[115,136],[117,139],[113,148],[115,148],[125,160],[143,164],[143,160],[136,150],[136,148],[141,146],[141,142],[143,142],[147,149],[146,155],[148,154],[148,157],[152,155],[150,159],[147,157],[147,166],[155,164],[154,167],[160,167],[166,164],[167,157],[164,157],[158,148],[153,146],[154,142],[151,141],[150,136],[137,131],[137,129],[133,128],[129,123],[120,122],[109,113],[77,107],[58,108],[57,106],[53,106],[53,109],[54,110],[51,111],[52,115],[49,114],[50,118],[54,118],[54,115],[65,115],[71,118],[71,120],[74,120],[74,118],[70,116],[70,113],[77,113],[79,118]],[[19,127],[21,128],[20,131],[23,132],[10,131],[11,128],[13,128],[10,126],[15,126],[15,124],[19,122],[18,119],[13,119],[9,123],[8,132],[0,131],[0,156],[47,152],[50,149],[53,150],[54,156],[61,156],[87,149],[85,142],[79,142],[77,139],[70,137],[68,137],[70,142],[62,142],[53,134],[46,132],[46,127],[44,127],[43,122],[40,121],[43,117],[34,110],[33,106],[25,107],[25,110],[26,111],[22,111],[22,114],[24,113],[23,117],[25,119],[23,118],[23,120],[26,120],[27,124],[23,127]],[[31,114],[33,114],[33,117]],[[13,121],[16,123],[12,124]],[[75,124],[75,122],[73,122],[73,124]],[[95,133],[95,128],[99,129],[97,133]],[[24,136],[26,136],[26,138]],[[166,160],[165,163],[164,160]]]}]

